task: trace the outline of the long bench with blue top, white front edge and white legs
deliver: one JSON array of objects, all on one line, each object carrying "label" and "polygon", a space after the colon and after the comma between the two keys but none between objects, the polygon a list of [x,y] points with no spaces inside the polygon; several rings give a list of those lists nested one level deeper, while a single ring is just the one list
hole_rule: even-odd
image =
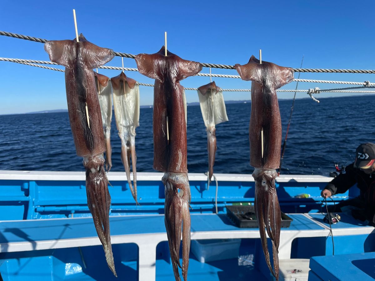
[{"label": "long bench with blue top, white front edge and white legs", "polygon": [[[293,221],[281,230],[280,259],[290,259],[292,243],[297,238],[324,237],[329,227],[322,214],[288,214]],[[259,230],[238,228],[224,214],[192,214],[192,239],[258,239]],[[157,247],[167,241],[164,215],[128,215],[110,218],[112,244],[134,243],[138,246],[139,280],[156,279]],[[365,235],[374,227],[363,226],[342,214],[333,225],[333,235]],[[329,244],[330,241],[327,242]],[[358,242],[356,242],[357,244]],[[101,245],[92,218],[58,218],[0,222],[1,252],[51,250]],[[158,261],[160,266],[164,265]],[[193,267],[192,267],[193,268]]]}]

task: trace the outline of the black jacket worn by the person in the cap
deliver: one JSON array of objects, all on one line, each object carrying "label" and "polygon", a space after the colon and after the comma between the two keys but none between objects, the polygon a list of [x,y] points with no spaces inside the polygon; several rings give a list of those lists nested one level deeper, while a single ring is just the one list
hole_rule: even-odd
[{"label": "black jacket worn by the person in the cap", "polygon": [[360,189],[360,199],[364,202],[366,217],[369,221],[374,220],[375,214],[375,173],[367,175],[360,169],[356,169],[351,163],[341,171],[340,175],[334,178],[326,189],[332,192],[332,195],[344,193],[354,184]]}]

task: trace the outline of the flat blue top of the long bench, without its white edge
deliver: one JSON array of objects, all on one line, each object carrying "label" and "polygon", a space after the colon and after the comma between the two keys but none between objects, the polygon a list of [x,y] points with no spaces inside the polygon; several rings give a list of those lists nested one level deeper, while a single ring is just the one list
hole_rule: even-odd
[{"label": "flat blue top of the long bench, without its white edge", "polygon": [[[323,227],[300,214],[290,214],[293,221],[288,230],[314,230]],[[191,232],[244,231],[226,215],[192,214]],[[110,217],[111,236],[145,233],[165,233],[164,215],[134,215]],[[246,229],[256,230],[258,229]],[[0,222],[0,243],[31,242],[55,239],[96,237],[92,218],[24,220]]]}]

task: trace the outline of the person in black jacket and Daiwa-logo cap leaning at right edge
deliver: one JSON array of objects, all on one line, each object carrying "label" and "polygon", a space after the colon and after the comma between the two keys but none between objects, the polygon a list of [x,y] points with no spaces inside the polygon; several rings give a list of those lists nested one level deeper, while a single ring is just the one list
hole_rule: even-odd
[{"label": "person in black jacket and Daiwa-logo cap leaning at right edge", "polygon": [[345,193],[357,184],[360,195],[345,200],[336,206],[329,206],[329,212],[341,212],[344,206],[354,206],[354,218],[375,224],[375,144],[362,143],[356,150],[356,160],[346,166],[321,192],[322,197]]}]

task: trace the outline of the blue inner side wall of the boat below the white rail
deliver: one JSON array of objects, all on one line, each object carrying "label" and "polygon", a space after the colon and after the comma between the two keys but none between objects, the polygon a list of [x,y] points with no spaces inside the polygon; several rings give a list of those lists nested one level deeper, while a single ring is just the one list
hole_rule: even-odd
[{"label": "blue inner side wall of the boat below the white rail", "polygon": [[[111,215],[163,214],[164,186],[160,180],[138,182],[136,206],[127,181],[111,181]],[[284,212],[320,212],[320,192],[325,182],[280,182],[277,184],[281,209]],[[355,190],[356,188],[351,188]],[[0,180],[0,220],[39,218],[90,217],[84,181],[21,181]],[[215,186],[207,181],[190,181],[192,213],[215,212]],[[295,198],[301,193],[307,199]],[[344,200],[349,192],[335,200]],[[226,213],[226,205],[254,202],[254,182],[220,181],[217,206],[219,213]],[[329,202],[332,204],[332,202]]]}]

